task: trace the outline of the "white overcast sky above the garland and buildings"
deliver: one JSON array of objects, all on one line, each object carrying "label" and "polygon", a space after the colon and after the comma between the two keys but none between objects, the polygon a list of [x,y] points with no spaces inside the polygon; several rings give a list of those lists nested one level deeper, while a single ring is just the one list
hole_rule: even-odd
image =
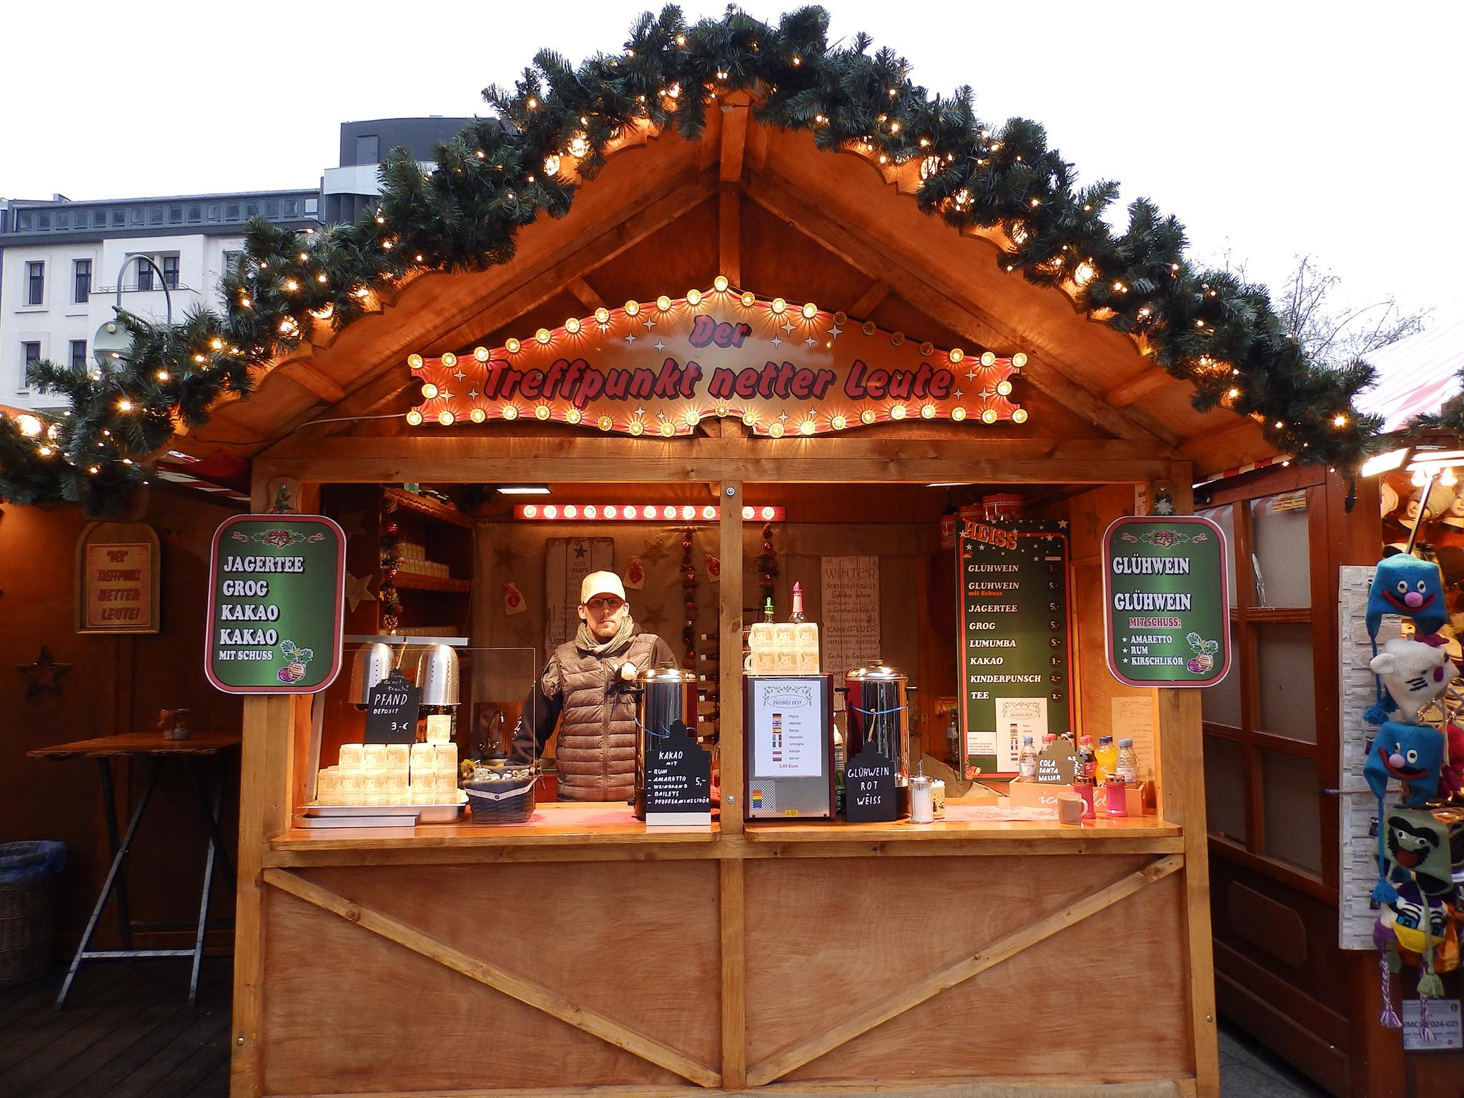
[{"label": "white overcast sky above the garland and buildings", "polygon": [[[647,6],[154,0],[101,18],[20,4],[7,37],[35,60],[0,70],[0,195],[313,186],[340,122],[482,113],[480,89],[539,47],[574,61],[618,50]],[[1464,313],[1457,0],[826,7],[832,40],[868,31],[933,92],[971,83],[984,122],[1041,122],[1080,179],[1176,214],[1202,262],[1228,249],[1280,288],[1309,253],[1356,305]]]}]

